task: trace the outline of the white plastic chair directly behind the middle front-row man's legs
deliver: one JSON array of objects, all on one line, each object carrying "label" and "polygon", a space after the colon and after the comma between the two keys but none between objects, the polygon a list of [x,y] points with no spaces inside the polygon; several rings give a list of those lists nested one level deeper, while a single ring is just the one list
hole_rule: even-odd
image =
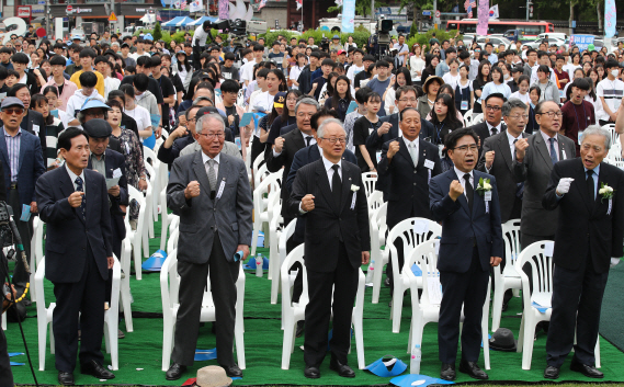
[{"label": "white plastic chair directly behind the middle front-row man's legs", "polygon": [[[283,305],[283,326],[284,326],[284,340],[282,343],[282,369],[291,367],[291,354],[295,350],[295,326],[297,321],[305,319],[306,305],[309,301],[308,297],[308,281],[306,275],[306,266],[304,264],[304,244],[294,248],[286,257],[282,265],[282,305]],[[291,287],[293,281],[288,275],[288,269],[295,263],[300,262],[304,276],[304,291],[299,303],[293,304],[291,301]],[[294,274],[292,275],[294,276]],[[364,333],[362,330],[362,321],[364,317],[364,273],[360,270],[358,282],[358,295],[355,296],[355,306],[353,307],[352,323],[353,335],[355,337],[355,346],[358,351],[358,367],[364,369],[366,362],[364,360]]]}]

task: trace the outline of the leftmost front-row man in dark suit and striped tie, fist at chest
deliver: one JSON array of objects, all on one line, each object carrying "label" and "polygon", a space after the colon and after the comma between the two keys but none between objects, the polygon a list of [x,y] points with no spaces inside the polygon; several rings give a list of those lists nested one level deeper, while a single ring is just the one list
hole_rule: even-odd
[{"label": "leftmost front-row man in dark suit and striped tie, fist at chest", "polygon": [[81,327],[80,372],[98,379],[115,377],[102,366],[104,298],[113,268],[111,212],[106,180],[87,169],[89,141],[83,130],[67,128],[58,138],[65,168],[37,180],[39,216],[46,223],[46,278],[54,284],[53,329],[61,385],[73,385]]}]

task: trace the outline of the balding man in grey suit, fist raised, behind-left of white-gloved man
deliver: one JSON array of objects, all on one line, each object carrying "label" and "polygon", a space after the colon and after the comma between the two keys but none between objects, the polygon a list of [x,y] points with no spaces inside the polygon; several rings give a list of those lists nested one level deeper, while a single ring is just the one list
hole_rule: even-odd
[{"label": "balding man in grey suit, fist raised, behind-left of white-gloved man", "polygon": [[535,106],[535,121],[540,132],[515,143],[517,158],[513,170],[518,182],[524,182],[520,231],[521,244],[526,248],[538,240],[554,240],[557,212],[542,207],[553,166],[576,157],[575,143],[558,134],[561,128],[561,110],[553,101]]}]

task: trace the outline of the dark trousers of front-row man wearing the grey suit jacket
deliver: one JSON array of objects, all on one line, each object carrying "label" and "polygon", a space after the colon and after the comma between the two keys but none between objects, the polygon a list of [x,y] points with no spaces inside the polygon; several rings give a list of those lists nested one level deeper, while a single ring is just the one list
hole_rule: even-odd
[{"label": "dark trousers of front-row man wearing the grey suit jacket", "polygon": [[200,334],[202,295],[209,275],[216,315],[217,362],[226,367],[236,364],[232,348],[236,318],[236,280],[239,270],[240,261],[234,262],[226,259],[218,232],[215,232],[208,262],[197,264],[178,261],[180,308],[178,309],[171,356],[174,363],[185,366],[193,365]]}]

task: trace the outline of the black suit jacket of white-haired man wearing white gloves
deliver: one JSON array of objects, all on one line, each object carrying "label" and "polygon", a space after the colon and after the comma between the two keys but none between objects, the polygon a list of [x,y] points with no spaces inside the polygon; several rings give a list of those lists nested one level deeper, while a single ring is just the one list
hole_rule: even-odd
[{"label": "black suit jacket of white-haired man wearing white gloves", "polygon": [[[570,191],[559,200],[556,190],[560,178],[572,178],[575,181],[570,184]],[[609,271],[611,257],[622,255],[624,172],[605,162],[600,163],[598,190],[602,183],[611,186],[614,190],[611,201],[603,200],[598,190],[595,200],[591,201],[586,181],[587,174],[580,158],[557,162],[553,168],[542,200],[544,208],[552,210],[558,207],[559,213],[553,259],[561,268],[578,270],[591,251],[593,270],[604,273]]]}]

